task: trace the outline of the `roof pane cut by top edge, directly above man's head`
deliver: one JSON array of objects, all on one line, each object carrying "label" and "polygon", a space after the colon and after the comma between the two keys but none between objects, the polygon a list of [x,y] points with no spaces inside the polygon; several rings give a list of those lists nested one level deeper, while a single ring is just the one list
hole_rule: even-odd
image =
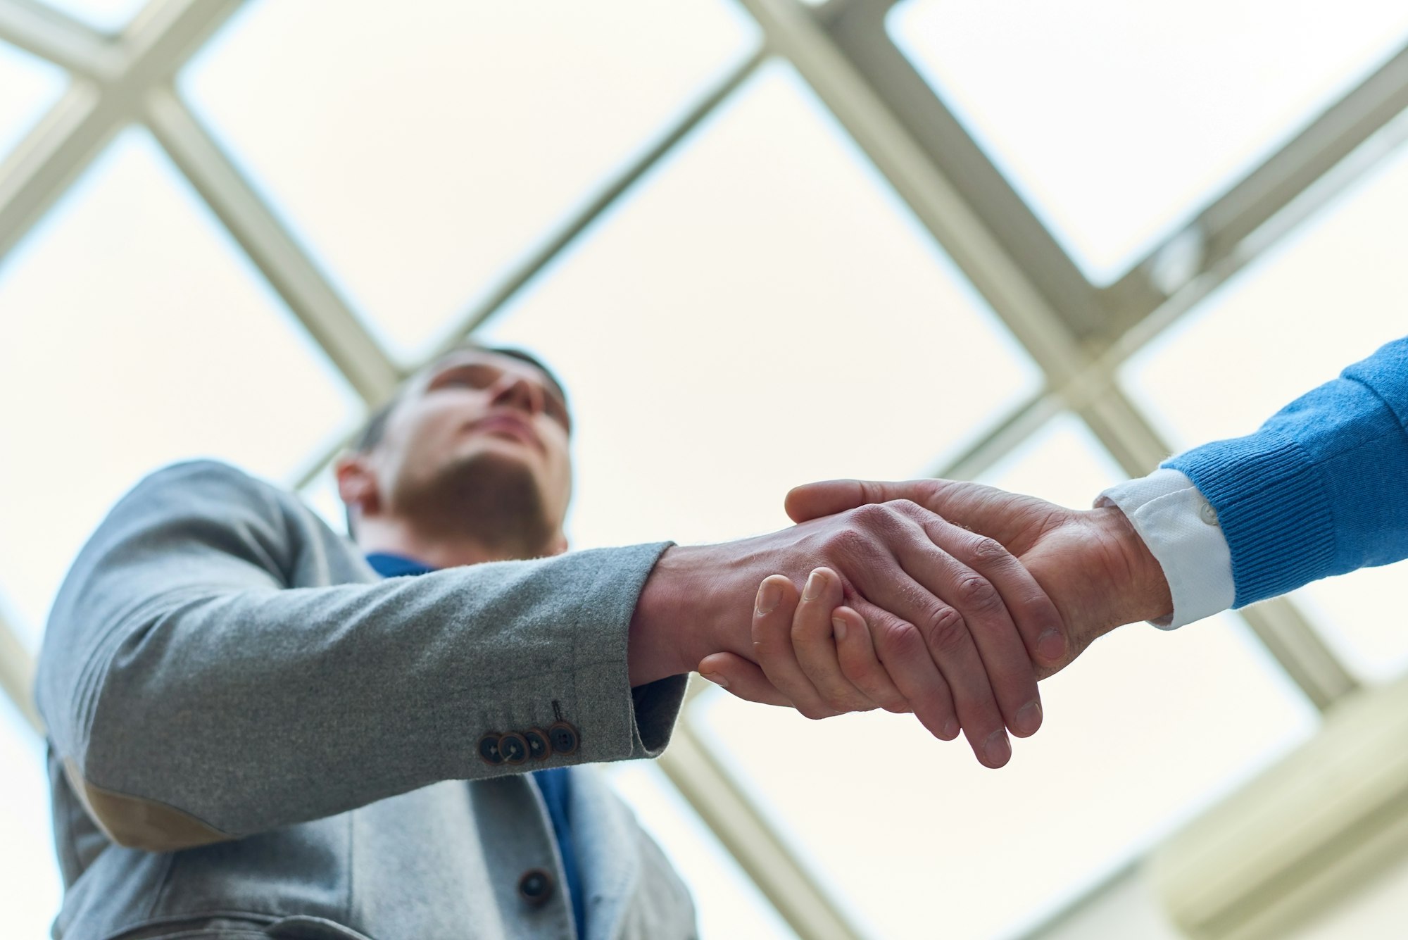
[{"label": "roof pane cut by top edge, directly above man's head", "polygon": [[263,0],[183,89],[413,360],[755,42],[728,0]]}]

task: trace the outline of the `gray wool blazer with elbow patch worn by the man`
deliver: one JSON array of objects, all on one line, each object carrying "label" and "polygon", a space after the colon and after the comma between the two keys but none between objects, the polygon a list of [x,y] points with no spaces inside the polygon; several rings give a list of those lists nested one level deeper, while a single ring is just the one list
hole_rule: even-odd
[{"label": "gray wool blazer with elbow patch worn by the man", "polygon": [[[62,940],[573,937],[521,771],[653,757],[684,677],[632,690],[627,630],[665,545],[382,580],[293,495],[213,462],[124,497],[70,570],[37,697]],[[580,744],[489,764],[489,733]],[[466,782],[467,781],[467,782]],[[696,933],[631,811],[572,771],[589,937]]]}]

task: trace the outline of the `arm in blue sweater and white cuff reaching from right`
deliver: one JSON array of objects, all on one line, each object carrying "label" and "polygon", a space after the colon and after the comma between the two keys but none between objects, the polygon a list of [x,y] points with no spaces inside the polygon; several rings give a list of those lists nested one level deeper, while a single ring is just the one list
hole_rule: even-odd
[{"label": "arm in blue sweater and white cuff reaching from right", "polygon": [[[900,498],[1018,556],[1060,611],[1071,639],[1064,661],[1121,623],[1180,626],[1397,561],[1408,557],[1408,339],[1349,366],[1255,433],[1107,490],[1091,511],[948,480],[815,483],[793,490],[787,511],[801,521]],[[729,660],[710,666],[725,680],[743,670]]]}]

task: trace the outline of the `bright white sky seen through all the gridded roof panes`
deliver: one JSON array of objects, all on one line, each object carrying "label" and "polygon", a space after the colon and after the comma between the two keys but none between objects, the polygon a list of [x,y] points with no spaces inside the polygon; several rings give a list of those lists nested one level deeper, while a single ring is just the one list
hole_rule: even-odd
[{"label": "bright white sky seen through all the gridded roof panes", "polygon": [[[131,3],[79,6],[113,28]],[[1401,4],[1347,3],[1315,30],[1264,3],[1215,6],[1135,17],[1094,0],[910,0],[891,28],[1102,276],[1408,31]],[[728,0],[332,10],[249,3],[180,90],[406,362],[758,41]],[[0,159],[62,86],[0,46]],[[1402,332],[1405,218],[1400,155],[1121,380],[1178,446],[1249,431]],[[141,474],[213,455],[290,483],[360,417],[141,129],[0,260],[0,394],[13,402],[0,409],[0,608],[35,644],[73,553]],[[577,547],[779,528],[790,485],[922,474],[1041,384],[780,63],[486,335],[541,352],[572,394]],[[1119,471],[1062,417],[986,478],[1083,507]],[[308,495],[337,522],[325,485]],[[1301,592],[1374,677],[1408,666],[1395,576]],[[1000,773],[900,716],[814,723],[711,691],[696,718],[856,919],[901,939],[1036,923],[1314,726],[1231,616],[1174,635],[1121,630],[1043,698],[1046,729]],[[46,795],[35,743],[7,708],[0,910],[14,936],[41,936],[58,903]],[[611,775],[694,888],[705,937],[787,936],[658,768]]]}]

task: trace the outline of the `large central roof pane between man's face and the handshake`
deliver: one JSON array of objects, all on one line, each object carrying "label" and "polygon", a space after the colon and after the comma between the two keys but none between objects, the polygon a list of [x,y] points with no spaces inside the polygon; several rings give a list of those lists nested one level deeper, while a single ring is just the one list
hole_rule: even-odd
[{"label": "large central roof pane between man's face and the handshake", "polygon": [[579,546],[780,528],[790,487],[921,473],[1039,383],[781,65],[486,338],[565,377]]}]

